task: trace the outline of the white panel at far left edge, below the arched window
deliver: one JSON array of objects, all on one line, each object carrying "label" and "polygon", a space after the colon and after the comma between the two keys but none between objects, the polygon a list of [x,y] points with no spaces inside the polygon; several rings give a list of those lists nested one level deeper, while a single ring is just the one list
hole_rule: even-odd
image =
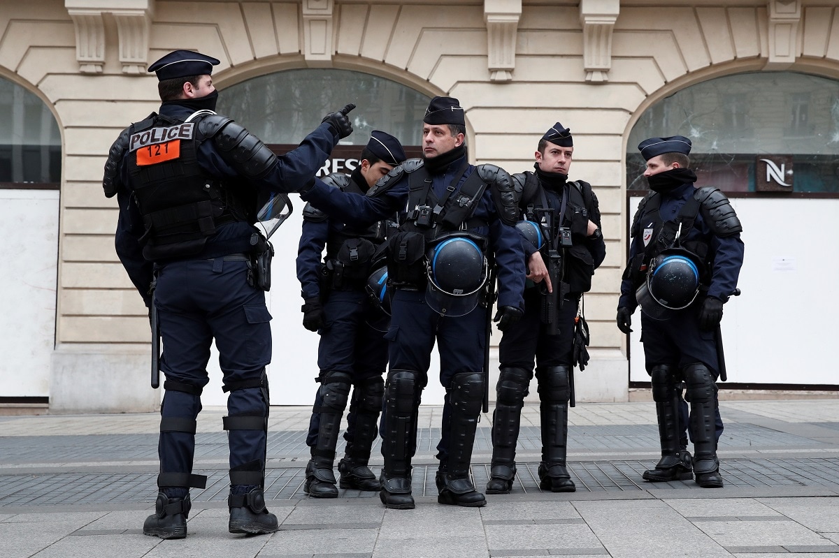
[{"label": "white panel at far left edge, below the arched window", "polygon": [[58,190],[0,189],[0,396],[50,395]]}]

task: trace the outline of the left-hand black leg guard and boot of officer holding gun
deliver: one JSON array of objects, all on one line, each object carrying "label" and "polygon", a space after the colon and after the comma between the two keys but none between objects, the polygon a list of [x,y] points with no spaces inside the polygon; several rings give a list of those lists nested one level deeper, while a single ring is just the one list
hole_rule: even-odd
[{"label": "left-hand black leg guard and boot of officer holding gun", "polygon": [[531,378],[533,372],[523,368],[501,369],[492,412],[492,468],[487,494],[507,494],[513,488],[521,412]]}]

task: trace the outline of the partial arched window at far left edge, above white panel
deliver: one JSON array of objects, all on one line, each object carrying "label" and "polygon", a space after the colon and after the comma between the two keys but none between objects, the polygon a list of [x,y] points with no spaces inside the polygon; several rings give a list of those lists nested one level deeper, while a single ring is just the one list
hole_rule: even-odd
[{"label": "partial arched window at far left edge, above white panel", "polygon": [[0,78],[0,187],[58,188],[61,136],[37,96]]}]

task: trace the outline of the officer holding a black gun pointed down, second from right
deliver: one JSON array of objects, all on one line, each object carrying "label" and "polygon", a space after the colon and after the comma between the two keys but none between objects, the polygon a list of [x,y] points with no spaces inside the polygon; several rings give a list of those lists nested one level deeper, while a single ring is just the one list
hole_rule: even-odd
[{"label": "officer holding a black gun pointed down, second from right", "polygon": [[[503,333],[498,346],[501,374],[487,494],[506,494],[513,487],[521,410],[534,359],[542,429],[539,486],[551,492],[576,489],[565,468],[574,326],[582,293],[591,289],[591,276],[606,257],[606,243],[591,184],[568,181],[573,152],[571,130],[556,122],[539,140],[534,172],[513,174],[521,217],[538,227],[537,236],[544,234],[546,241],[541,246],[523,242],[531,280],[524,290],[524,317]],[[553,276],[545,265],[551,257]],[[551,301],[560,302],[552,316],[545,312]]]}]

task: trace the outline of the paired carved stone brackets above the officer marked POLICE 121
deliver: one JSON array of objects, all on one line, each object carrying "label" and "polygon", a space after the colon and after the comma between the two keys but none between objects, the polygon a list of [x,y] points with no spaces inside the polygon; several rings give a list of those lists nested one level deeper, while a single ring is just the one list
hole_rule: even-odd
[{"label": "paired carved stone brackets above the officer marked POLICE 121", "polygon": [[65,0],[76,26],[76,59],[83,74],[101,74],[105,65],[104,14],[117,22],[122,72],[145,75],[149,58],[149,29],[154,0]]}]

